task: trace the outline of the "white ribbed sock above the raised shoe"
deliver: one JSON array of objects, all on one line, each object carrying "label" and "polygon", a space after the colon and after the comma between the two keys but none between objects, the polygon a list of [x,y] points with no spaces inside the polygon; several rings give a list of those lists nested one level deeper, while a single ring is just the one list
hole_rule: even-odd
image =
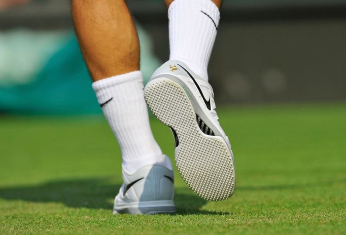
[{"label": "white ribbed sock above the raised shoe", "polygon": [[207,66],[220,20],[211,0],[175,0],[168,9],[169,59],[181,60],[208,81]]}]

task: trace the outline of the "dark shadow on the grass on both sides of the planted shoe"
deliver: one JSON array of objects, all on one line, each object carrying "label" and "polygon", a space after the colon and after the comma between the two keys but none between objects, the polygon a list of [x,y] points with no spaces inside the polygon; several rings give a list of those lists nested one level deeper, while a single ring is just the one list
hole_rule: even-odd
[{"label": "dark shadow on the grass on both sides of the planted shoe", "polygon": [[[112,201],[120,186],[112,184],[108,178],[51,181],[40,185],[3,187],[0,188],[0,198],[40,203],[55,202],[73,208],[112,210]],[[206,201],[184,191],[185,188],[176,189],[177,214],[226,214],[200,210]]]}]

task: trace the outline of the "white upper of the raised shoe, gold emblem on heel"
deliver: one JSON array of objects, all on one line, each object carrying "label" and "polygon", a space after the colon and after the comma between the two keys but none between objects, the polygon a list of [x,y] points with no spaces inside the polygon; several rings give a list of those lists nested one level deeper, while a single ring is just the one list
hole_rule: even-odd
[{"label": "white upper of the raised shoe, gold emblem on heel", "polygon": [[[203,116],[202,121],[213,130],[215,135],[223,137],[229,148],[231,148],[228,137],[218,121],[219,117],[216,112],[212,86],[194,73],[184,62],[179,60],[168,60],[156,69],[151,80],[161,77],[162,75],[171,77],[175,81],[179,80],[177,82],[183,85],[186,92],[191,91],[199,106],[198,108],[195,107],[196,114]],[[187,89],[185,89],[185,87]]]}]

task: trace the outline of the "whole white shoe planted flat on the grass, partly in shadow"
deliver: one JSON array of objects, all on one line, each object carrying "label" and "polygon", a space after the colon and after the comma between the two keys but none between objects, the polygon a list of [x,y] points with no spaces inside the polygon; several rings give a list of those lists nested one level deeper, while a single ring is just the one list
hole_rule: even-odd
[{"label": "whole white shoe planted flat on the grass, partly in shadow", "polygon": [[124,183],[114,200],[114,214],[175,213],[174,173],[161,165],[122,173]]}]

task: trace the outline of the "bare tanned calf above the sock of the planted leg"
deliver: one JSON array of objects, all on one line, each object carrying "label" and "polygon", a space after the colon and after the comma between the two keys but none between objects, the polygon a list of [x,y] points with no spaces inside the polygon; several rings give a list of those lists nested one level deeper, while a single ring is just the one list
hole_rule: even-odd
[{"label": "bare tanned calf above the sock of the planted leg", "polygon": [[140,69],[140,44],[124,0],[73,0],[80,47],[93,81]]}]

